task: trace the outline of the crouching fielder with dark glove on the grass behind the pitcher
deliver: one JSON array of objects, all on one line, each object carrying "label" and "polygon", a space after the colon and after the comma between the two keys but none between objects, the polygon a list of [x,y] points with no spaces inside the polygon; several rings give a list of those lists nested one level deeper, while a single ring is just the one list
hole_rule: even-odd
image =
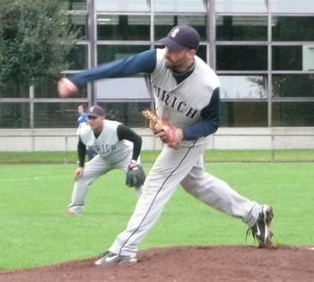
[{"label": "crouching fielder with dark glove on the grass behind the pitcher", "polygon": [[[137,162],[142,138],[126,125],[107,120],[100,106],[91,107],[87,116],[89,124],[81,128],[77,145],[79,167],[74,172],[72,202],[66,212],[68,216],[82,213],[89,185],[112,169],[126,172],[126,185],[135,187],[138,196],[145,180],[144,171]],[[86,146],[92,147],[97,156],[85,164]]]}]

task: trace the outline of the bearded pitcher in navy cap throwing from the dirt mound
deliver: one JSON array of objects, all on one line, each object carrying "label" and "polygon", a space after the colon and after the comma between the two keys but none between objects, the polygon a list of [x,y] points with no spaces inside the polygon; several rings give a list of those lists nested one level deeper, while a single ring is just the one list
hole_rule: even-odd
[{"label": "bearded pitcher in navy cap throwing from the dirt mound", "polygon": [[[165,48],[102,64],[58,83],[59,95],[66,98],[87,81],[149,73],[157,115],[175,126],[173,141],[179,144],[177,150],[163,146],[126,230],[118,235],[109,251],[100,254],[97,265],[136,262],[138,244],[161,216],[178,184],[214,209],[242,219],[260,246],[272,244],[272,208],[240,196],[228,184],[204,171],[202,154],[219,127],[220,97],[217,75],[196,56],[199,40],[194,28],[177,26],[160,40]],[[167,132],[155,136],[166,141]]]}]

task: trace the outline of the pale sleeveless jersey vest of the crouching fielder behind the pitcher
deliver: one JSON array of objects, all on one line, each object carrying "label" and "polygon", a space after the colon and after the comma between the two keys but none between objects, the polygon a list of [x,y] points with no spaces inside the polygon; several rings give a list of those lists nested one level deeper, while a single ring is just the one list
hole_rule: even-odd
[{"label": "pale sleeveless jersey vest of the crouching fielder behind the pitcher", "polygon": [[133,143],[118,140],[117,128],[120,123],[110,120],[103,121],[103,129],[98,138],[95,137],[90,125],[83,126],[80,139],[86,146],[91,146],[95,152],[111,164],[116,164],[126,158],[133,150]]}]

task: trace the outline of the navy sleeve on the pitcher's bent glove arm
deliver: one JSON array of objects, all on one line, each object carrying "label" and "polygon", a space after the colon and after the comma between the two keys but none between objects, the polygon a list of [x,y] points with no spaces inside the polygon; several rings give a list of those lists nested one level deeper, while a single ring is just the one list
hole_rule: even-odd
[{"label": "navy sleeve on the pitcher's bent glove arm", "polygon": [[219,127],[219,88],[217,87],[212,98],[205,108],[202,109],[202,120],[196,124],[182,128],[183,140],[194,140],[213,134]]}]

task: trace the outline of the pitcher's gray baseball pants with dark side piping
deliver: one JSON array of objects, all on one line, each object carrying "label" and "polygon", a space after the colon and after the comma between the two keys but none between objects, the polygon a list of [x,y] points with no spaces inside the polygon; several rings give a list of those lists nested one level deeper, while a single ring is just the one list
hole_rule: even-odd
[{"label": "pitcher's gray baseball pants with dark side piping", "polygon": [[135,255],[138,244],[161,216],[178,184],[214,209],[236,218],[249,226],[257,221],[261,207],[255,201],[240,196],[222,180],[205,173],[202,153],[208,143],[180,147],[178,150],[164,146],[152,170],[146,177],[143,193],[137,201],[126,231],[118,235],[109,248],[121,255]]}]

